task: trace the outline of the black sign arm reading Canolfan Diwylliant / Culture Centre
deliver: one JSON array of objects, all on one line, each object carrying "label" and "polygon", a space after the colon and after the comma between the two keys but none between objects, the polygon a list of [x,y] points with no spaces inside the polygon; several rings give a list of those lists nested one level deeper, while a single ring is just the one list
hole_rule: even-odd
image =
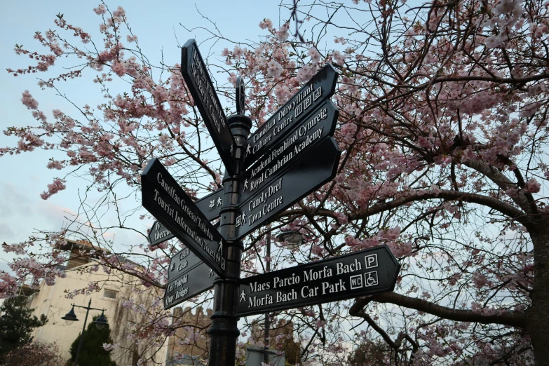
[{"label": "black sign arm reading Canolfan Diwylliant / Culture Centre", "polygon": [[268,155],[271,147],[292,130],[292,126],[307,118],[322,102],[334,94],[337,71],[325,65],[303,88],[290,98],[253,133],[244,144],[245,165]]}]

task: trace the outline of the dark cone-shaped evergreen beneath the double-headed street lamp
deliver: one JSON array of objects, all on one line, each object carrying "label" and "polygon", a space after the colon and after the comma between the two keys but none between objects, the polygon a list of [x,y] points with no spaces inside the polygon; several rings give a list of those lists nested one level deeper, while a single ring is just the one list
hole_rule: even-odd
[{"label": "dark cone-shaped evergreen beneath the double-headed street lamp", "polygon": [[[94,316],[93,320],[97,318],[98,316]],[[80,337],[82,337],[82,334],[79,334],[71,345],[72,363],[74,363],[74,359],[76,358]],[[113,343],[109,325],[105,325],[102,330],[98,330],[95,324],[89,323],[83,337],[78,357],[78,366],[116,366],[116,362],[111,360],[111,351],[106,351],[103,348],[103,344]]]}]

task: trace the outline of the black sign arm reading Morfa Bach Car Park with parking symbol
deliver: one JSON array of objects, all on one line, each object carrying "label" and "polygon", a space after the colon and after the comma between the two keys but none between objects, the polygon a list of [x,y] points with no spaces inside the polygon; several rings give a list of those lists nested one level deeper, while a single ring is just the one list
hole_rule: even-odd
[{"label": "black sign arm reading Morfa Bach Car Park with parking symbol", "polygon": [[238,316],[393,291],[400,264],[386,245],[240,280]]}]

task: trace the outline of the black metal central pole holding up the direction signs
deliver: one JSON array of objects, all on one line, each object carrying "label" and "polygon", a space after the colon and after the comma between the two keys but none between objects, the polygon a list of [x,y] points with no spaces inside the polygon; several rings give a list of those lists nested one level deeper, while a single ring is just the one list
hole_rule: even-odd
[{"label": "black metal central pole holding up the direction signs", "polygon": [[233,159],[234,174],[223,177],[224,198],[220,210],[221,225],[219,233],[226,238],[226,273],[225,278],[214,281],[214,312],[212,325],[208,330],[210,335],[210,366],[234,366],[236,358],[236,339],[238,330],[238,315],[236,306],[238,301],[238,286],[240,279],[240,261],[242,259],[243,243],[236,240],[235,225],[238,209],[238,192],[240,190],[240,175],[244,171],[243,148],[252,121],[243,114],[236,114],[227,118],[236,143]]}]

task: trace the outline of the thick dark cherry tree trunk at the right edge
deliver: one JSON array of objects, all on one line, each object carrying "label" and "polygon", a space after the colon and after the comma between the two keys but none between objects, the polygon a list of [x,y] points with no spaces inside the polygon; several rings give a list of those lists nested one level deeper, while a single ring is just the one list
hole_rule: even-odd
[{"label": "thick dark cherry tree trunk at the right edge", "polygon": [[541,214],[529,232],[534,243],[535,278],[526,330],[534,347],[536,366],[549,366],[549,215]]}]

